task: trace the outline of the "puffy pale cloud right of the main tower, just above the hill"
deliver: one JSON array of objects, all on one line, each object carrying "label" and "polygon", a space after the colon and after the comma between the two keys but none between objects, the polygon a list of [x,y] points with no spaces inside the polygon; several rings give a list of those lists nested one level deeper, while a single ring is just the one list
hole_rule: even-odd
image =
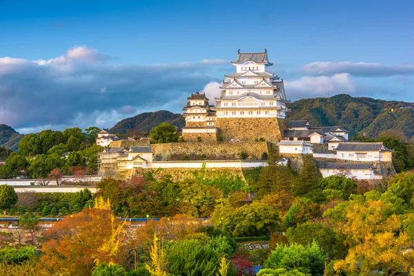
[{"label": "puffy pale cloud right of the main tower, just above the hill", "polygon": [[355,83],[346,73],[333,76],[301,77],[293,81],[284,81],[286,94],[293,99],[318,97],[355,92]]}]

